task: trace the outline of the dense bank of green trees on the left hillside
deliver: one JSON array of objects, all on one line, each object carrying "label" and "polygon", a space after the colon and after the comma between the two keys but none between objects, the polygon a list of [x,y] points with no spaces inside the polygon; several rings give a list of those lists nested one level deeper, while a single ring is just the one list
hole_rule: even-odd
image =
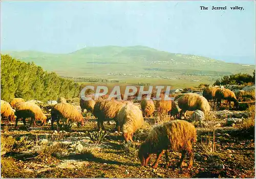
[{"label": "dense bank of green trees on the left hillside", "polygon": [[72,98],[79,95],[79,85],[60,78],[55,72],[44,71],[33,62],[25,63],[1,54],[1,98],[25,100],[56,100],[59,96]]}]

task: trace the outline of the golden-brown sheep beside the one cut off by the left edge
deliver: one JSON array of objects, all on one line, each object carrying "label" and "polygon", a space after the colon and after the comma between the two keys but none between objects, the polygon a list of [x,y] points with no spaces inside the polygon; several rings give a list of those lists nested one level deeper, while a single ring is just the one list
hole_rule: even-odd
[{"label": "golden-brown sheep beside the one cut off by the left edge", "polygon": [[17,127],[18,119],[23,119],[23,124],[26,126],[26,118],[31,118],[31,123],[33,122],[33,126],[37,126],[35,121],[41,121],[41,125],[46,124],[46,115],[42,113],[42,110],[39,106],[34,103],[30,102],[19,102],[16,105],[16,112],[15,112],[16,121],[15,127]]}]

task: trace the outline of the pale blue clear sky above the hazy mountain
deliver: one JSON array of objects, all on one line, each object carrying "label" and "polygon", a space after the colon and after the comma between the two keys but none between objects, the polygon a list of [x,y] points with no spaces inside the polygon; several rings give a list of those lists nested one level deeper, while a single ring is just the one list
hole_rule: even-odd
[{"label": "pale blue clear sky above the hazy mountain", "polygon": [[[1,2],[1,51],[143,45],[255,64],[253,1]],[[209,10],[201,10],[200,6]],[[227,10],[210,10],[227,6]],[[230,10],[240,6],[244,10]]]}]

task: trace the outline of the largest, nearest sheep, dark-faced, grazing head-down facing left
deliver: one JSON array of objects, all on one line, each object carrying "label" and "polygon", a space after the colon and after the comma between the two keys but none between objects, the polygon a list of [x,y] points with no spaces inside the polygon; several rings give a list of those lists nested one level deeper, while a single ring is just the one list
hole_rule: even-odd
[{"label": "largest, nearest sheep, dark-faced, grazing head-down facing left", "polygon": [[150,160],[151,154],[157,154],[157,159],[153,164],[153,168],[157,168],[158,162],[165,153],[166,165],[169,166],[168,149],[171,151],[181,151],[182,156],[178,167],[184,160],[186,152],[189,156],[188,168],[193,165],[193,143],[197,141],[197,131],[193,124],[184,120],[173,120],[164,122],[155,126],[145,141],[141,144],[138,157],[141,166],[146,166]]}]

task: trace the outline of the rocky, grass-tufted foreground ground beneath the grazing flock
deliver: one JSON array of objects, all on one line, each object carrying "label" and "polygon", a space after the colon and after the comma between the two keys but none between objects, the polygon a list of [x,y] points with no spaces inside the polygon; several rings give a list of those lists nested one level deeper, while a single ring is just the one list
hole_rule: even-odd
[{"label": "rocky, grass-tufted foreground ground beneath the grazing flock", "polygon": [[170,152],[169,168],[163,167],[164,156],[157,169],[140,166],[137,151],[153,118],[145,119],[148,125],[136,132],[134,144],[123,142],[114,122],[105,123],[108,131],[99,133],[94,118],[69,132],[53,131],[50,124],[25,129],[20,123],[18,130],[2,125],[2,177],[254,177],[254,126],[242,126],[248,116],[222,110],[197,123],[191,170],[186,168],[188,158],[181,169],[175,167],[179,152]]}]

